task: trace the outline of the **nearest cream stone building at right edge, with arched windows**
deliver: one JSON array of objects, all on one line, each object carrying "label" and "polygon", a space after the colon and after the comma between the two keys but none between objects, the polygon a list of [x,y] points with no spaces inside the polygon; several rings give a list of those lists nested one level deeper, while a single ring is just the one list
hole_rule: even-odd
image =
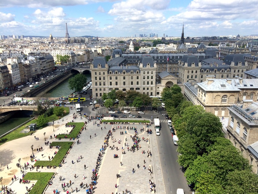
[{"label": "nearest cream stone building at right edge, with arched windows", "polygon": [[258,174],[258,103],[243,103],[228,107],[227,137],[249,160],[254,173]]}]

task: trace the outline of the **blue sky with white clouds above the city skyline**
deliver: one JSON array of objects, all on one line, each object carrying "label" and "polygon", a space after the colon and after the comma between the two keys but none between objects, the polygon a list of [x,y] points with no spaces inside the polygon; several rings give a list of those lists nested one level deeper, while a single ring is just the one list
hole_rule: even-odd
[{"label": "blue sky with white clouds above the city skyline", "polygon": [[0,35],[139,37],[258,34],[258,0],[0,1]]}]

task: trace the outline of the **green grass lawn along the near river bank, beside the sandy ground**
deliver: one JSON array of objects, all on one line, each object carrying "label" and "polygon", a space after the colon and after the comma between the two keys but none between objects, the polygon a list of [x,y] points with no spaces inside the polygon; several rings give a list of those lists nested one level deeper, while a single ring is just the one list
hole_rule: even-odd
[{"label": "green grass lawn along the near river bank, beside the sandy ground", "polygon": [[[64,107],[64,115],[63,116],[66,116],[68,114],[69,114],[69,107]],[[48,117],[48,119],[49,119],[49,122],[52,121],[53,119],[58,120],[59,116],[51,115],[51,116]],[[20,133],[20,131],[27,128],[27,126],[30,125],[31,123],[36,123],[35,119],[33,119],[32,121],[30,121],[30,122],[26,123],[25,125],[19,127],[18,129],[16,129],[12,133],[9,133],[9,134],[5,135],[4,137],[2,137],[0,139],[0,145],[2,145],[3,143],[5,143],[7,141],[12,141],[14,139],[22,138],[22,137],[25,137],[25,136],[29,135],[28,133],[26,133],[26,134],[25,133]],[[43,129],[44,127],[47,127],[47,124],[42,126],[42,127],[37,127],[37,130]],[[33,133],[36,133],[37,130],[34,131]]]}]

